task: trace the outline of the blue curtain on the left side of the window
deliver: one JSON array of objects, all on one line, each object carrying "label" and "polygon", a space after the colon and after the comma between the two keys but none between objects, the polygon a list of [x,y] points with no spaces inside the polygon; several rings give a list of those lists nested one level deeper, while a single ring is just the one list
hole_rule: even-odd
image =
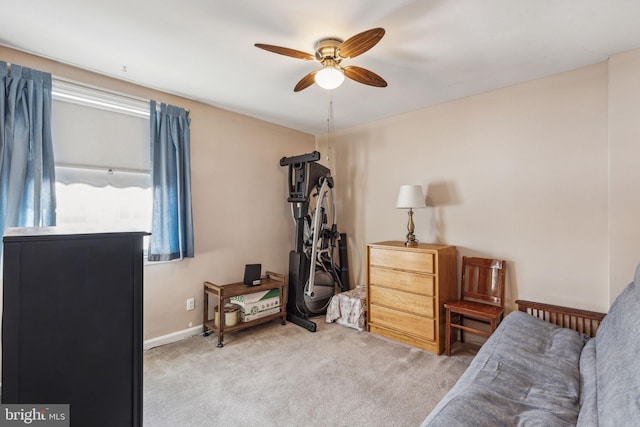
[{"label": "blue curtain on the left side of the window", "polygon": [[55,183],[51,74],[0,62],[0,231],[55,225]]}]

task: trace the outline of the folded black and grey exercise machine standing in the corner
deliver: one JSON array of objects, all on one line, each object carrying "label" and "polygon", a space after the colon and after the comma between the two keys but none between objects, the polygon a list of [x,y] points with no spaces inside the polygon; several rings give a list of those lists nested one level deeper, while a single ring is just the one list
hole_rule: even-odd
[{"label": "folded black and grey exercise machine standing in the corner", "polygon": [[[294,249],[289,252],[287,320],[311,332],[316,324],[309,316],[323,314],[336,287],[349,289],[347,238],[337,229],[333,178],[328,168],[316,163],[314,151],[283,157],[289,168],[289,196],[295,224]],[[339,262],[334,252],[339,245]]]}]

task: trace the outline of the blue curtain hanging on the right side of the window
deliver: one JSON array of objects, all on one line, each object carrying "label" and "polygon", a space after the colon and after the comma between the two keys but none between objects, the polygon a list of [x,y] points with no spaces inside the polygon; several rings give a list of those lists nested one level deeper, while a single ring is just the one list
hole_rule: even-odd
[{"label": "blue curtain hanging on the right side of the window", "polygon": [[193,258],[188,113],[151,101],[153,214],[149,261]]}]

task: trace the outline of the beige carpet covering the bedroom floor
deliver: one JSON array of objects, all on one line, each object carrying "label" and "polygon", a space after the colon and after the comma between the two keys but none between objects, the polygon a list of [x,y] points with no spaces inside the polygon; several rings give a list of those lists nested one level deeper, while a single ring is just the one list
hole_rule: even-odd
[{"label": "beige carpet covering the bedroom floor", "polygon": [[315,318],[196,336],[144,355],[144,425],[418,426],[475,348],[452,357]]}]

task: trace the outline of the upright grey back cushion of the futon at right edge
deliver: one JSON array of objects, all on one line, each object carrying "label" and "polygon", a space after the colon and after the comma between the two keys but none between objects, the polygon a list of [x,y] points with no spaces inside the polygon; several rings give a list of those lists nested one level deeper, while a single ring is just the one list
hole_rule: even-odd
[{"label": "upright grey back cushion of the futon at right edge", "polygon": [[640,420],[640,265],[616,298],[596,334],[600,425]]}]

